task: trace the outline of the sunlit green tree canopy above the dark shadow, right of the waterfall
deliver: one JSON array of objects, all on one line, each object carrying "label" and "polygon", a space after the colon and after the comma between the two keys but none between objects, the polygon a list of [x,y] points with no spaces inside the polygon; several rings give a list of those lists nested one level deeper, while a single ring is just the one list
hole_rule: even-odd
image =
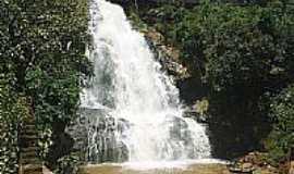
[{"label": "sunlit green tree canopy above the dark shadow, right of the waterfall", "polygon": [[[215,90],[292,75],[294,17],[279,4],[205,3],[193,10],[164,7],[151,12],[159,18],[158,29],[182,49],[192,73]],[[173,23],[162,29],[169,18]]]}]

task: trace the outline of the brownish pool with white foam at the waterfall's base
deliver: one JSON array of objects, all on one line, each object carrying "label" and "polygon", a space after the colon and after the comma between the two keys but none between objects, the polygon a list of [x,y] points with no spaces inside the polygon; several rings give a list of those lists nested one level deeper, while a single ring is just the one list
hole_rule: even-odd
[{"label": "brownish pool with white foam at the waterfall's base", "polygon": [[87,165],[82,167],[79,174],[230,174],[230,172],[224,162],[208,159]]}]

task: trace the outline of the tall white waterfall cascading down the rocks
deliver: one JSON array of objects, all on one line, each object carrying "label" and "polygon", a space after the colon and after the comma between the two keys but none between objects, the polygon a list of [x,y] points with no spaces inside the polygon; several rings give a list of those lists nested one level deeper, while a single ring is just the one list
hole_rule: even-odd
[{"label": "tall white waterfall cascading down the rocks", "polygon": [[205,127],[183,117],[179,90],[123,9],[94,0],[90,16],[95,77],[82,94],[82,108],[103,130],[89,128],[89,156],[126,153],[132,162],[208,158]]}]

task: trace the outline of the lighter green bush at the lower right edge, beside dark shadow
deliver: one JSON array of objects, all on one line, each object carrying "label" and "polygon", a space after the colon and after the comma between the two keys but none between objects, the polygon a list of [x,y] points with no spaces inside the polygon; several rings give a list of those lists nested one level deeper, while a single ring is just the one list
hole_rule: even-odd
[{"label": "lighter green bush at the lower right edge, beside dark shadow", "polygon": [[290,86],[271,99],[273,129],[267,140],[267,149],[273,162],[285,160],[294,145],[294,86]]}]

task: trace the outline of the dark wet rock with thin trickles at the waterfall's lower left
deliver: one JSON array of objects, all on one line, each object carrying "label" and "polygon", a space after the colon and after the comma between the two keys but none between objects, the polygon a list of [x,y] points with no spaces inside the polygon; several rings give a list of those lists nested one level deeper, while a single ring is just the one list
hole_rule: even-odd
[{"label": "dark wet rock with thin trickles at the waterfall's lower left", "polygon": [[[66,128],[74,139],[74,151],[83,154],[87,163],[124,162],[128,157],[126,146],[118,140],[131,123],[109,116],[102,109],[81,109],[81,116]],[[91,135],[91,136],[89,136]]]}]

